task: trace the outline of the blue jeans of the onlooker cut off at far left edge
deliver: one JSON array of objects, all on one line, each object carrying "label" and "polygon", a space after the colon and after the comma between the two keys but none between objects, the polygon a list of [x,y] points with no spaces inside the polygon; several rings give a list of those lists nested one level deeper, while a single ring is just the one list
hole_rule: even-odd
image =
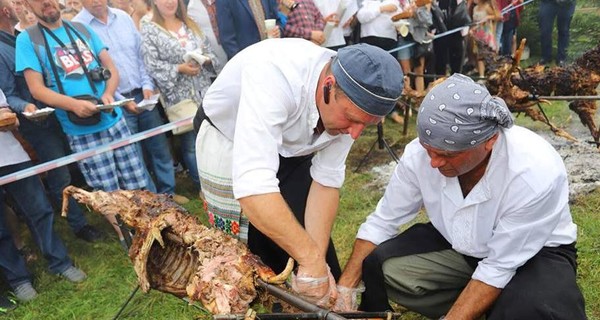
[{"label": "blue jeans of the onlooker cut off at far left edge", "polygon": [[[31,167],[31,162],[22,162],[0,168],[0,176]],[[50,201],[46,198],[44,187],[39,177],[31,176],[0,187],[0,204],[4,202],[6,191],[17,205],[17,210],[24,215],[31,237],[42,255],[48,261],[50,272],[59,274],[73,263],[67,255],[67,249],[54,232],[54,214]],[[14,289],[20,284],[31,281],[23,256],[17,251],[10,231],[6,227],[4,206],[0,205],[0,269],[8,284]]]}]

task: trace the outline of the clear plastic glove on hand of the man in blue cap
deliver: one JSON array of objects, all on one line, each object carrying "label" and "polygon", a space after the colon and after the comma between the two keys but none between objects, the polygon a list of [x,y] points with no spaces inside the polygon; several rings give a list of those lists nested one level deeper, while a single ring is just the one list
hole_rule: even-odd
[{"label": "clear plastic glove on hand of the man in blue cap", "polygon": [[292,274],[292,290],[306,300],[324,308],[330,308],[337,299],[335,279],[327,267],[327,276],[321,278],[303,277]]}]

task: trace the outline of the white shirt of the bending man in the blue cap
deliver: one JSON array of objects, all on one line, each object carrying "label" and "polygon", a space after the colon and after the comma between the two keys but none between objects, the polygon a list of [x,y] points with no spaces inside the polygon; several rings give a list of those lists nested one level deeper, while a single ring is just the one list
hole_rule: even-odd
[{"label": "white shirt of the bending man in the blue cap", "polygon": [[279,192],[279,156],[315,153],[311,176],[339,188],[352,143],[349,135],[315,135],[319,75],[334,51],[304,39],[267,39],[229,60],[208,89],[203,107],[233,141],[236,199]]}]

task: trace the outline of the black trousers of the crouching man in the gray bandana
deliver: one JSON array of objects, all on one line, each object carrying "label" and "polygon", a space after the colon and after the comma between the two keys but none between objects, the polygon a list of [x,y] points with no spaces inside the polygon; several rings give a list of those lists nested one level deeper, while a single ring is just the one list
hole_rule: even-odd
[{"label": "black trousers of the crouching man in the gray bandana", "polygon": [[[381,243],[363,261],[366,290],[360,310],[391,310],[386,293],[383,263],[394,257],[451,249],[452,246],[431,225],[416,224],[395,238]],[[464,256],[473,268],[479,259]],[[544,247],[523,266],[504,287],[488,310],[488,320],[587,319],[584,300],[576,283],[575,244]]]}]

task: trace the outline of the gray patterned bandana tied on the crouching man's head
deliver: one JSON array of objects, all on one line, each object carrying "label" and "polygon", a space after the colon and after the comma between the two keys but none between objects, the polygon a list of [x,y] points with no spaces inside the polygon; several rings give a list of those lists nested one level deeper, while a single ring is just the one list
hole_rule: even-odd
[{"label": "gray patterned bandana tied on the crouching man's head", "polygon": [[417,116],[421,143],[445,151],[475,147],[512,125],[504,100],[458,73],[427,93]]}]

